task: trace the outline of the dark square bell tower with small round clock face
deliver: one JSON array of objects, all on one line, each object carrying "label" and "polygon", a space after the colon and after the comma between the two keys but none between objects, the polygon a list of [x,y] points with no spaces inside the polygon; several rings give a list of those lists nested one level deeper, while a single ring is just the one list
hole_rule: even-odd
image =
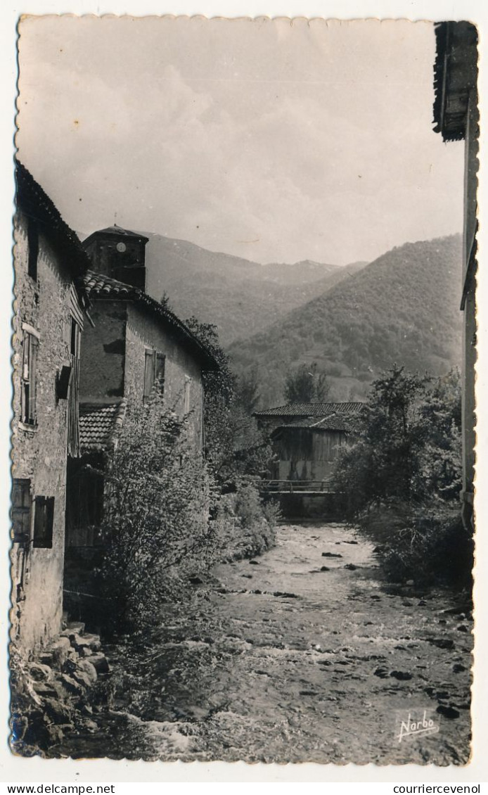
[{"label": "dark square bell tower with small round clock face", "polygon": [[145,291],[144,235],[114,225],[93,232],[83,241],[93,270]]}]

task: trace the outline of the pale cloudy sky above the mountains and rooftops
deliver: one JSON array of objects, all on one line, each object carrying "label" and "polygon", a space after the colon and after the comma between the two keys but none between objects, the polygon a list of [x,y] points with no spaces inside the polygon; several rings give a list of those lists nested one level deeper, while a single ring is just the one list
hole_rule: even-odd
[{"label": "pale cloudy sky above the mountains and rooftops", "polygon": [[27,17],[19,157],[80,235],[371,260],[462,228],[427,22]]}]

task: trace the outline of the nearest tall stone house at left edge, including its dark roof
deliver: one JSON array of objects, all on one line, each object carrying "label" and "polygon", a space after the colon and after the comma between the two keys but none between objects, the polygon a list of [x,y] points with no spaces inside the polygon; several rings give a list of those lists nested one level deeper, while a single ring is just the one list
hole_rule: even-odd
[{"label": "nearest tall stone house at left edge, including its dark roof", "polygon": [[11,636],[23,649],[61,629],[68,457],[79,456],[84,273],[75,233],[16,163]]}]

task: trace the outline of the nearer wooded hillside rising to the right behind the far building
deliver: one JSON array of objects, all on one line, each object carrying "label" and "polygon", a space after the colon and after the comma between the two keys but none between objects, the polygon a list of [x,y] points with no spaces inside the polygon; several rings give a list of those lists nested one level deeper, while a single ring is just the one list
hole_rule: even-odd
[{"label": "nearer wooded hillside rising to the right behind the far building", "polygon": [[330,400],[366,395],[393,362],[441,374],[461,358],[461,237],[393,248],[266,332],[229,352],[238,373],[258,365],[261,405],[282,401],[285,374],[318,363]]}]

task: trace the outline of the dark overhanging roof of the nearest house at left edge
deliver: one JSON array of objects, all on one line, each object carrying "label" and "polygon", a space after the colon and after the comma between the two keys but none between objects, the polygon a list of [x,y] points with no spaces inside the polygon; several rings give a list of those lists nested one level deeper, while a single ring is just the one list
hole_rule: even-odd
[{"label": "dark overhanging roof of the nearest house at left edge", "polygon": [[66,266],[74,277],[86,273],[90,260],[78,235],[64,223],[56,205],[18,160],[15,161],[15,181],[17,207],[34,219],[56,248],[63,252]]}]

